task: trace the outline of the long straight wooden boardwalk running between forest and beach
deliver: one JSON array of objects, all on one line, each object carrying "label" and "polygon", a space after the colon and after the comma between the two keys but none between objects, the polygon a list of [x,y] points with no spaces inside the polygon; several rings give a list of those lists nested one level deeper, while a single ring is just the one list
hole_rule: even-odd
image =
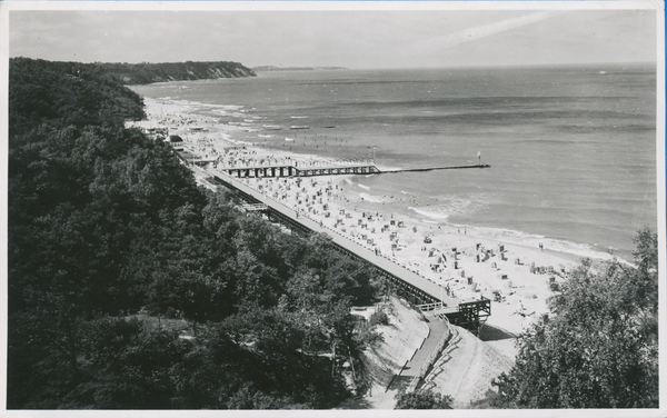
[{"label": "long straight wooden boardwalk running between forest and beach", "polygon": [[287,223],[290,228],[302,232],[326,233],[341,252],[370,263],[379,273],[391,280],[395,286],[414,296],[416,300],[422,303],[426,302],[421,309],[437,310],[450,317],[452,324],[462,326],[471,324],[475,327],[479,326],[480,316],[485,318],[490,315],[490,300],[488,298],[462,300],[447,296],[439,285],[394,262],[384,255],[376,255],[371,247],[361,246],[337,230],[322,226],[306,215],[297,213],[295,209],[260,193],[227,173],[211,168],[208,168],[207,172],[218,185],[236,190],[248,203],[265,205],[271,217]]}]

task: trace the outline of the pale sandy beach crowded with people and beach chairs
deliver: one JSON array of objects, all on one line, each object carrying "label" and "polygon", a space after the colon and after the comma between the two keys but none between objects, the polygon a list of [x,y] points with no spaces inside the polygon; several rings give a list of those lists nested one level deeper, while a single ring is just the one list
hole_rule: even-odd
[{"label": "pale sandy beach crowded with people and beach chairs", "polygon": [[[215,117],[197,113],[202,108],[217,108],[243,117],[240,106],[150,98],[145,98],[145,103],[148,121],[137,125],[170,127],[169,135],[182,135],[185,147],[192,155],[211,159],[213,167],[239,161],[266,163],[271,159],[291,159],[302,163],[334,160],[237,139],[249,128],[220,123]],[[494,300],[492,315],[487,324],[512,335],[520,334],[536,318],[548,312],[547,298],[552,295],[551,286],[559,286],[567,271],[583,258],[560,249],[547,247],[541,250],[504,239],[508,238],[502,236],[508,230],[452,225],[447,219],[427,219],[427,215],[417,211],[414,216],[384,213],[381,201],[368,201],[372,200],[368,188],[350,190],[356,187],[351,178],[358,176],[249,178],[243,182],[422,275],[440,285],[444,292],[450,291],[460,298],[479,297],[480,293]],[[380,208],[377,208],[378,205]],[[498,233],[494,235],[491,230]],[[519,241],[524,235],[520,231],[509,232],[514,232]],[[544,240],[549,241],[546,237]],[[590,252],[594,252],[593,249]],[[599,257],[591,258],[609,260],[611,256],[600,252]],[[509,345],[495,347],[508,357],[516,355]]]}]

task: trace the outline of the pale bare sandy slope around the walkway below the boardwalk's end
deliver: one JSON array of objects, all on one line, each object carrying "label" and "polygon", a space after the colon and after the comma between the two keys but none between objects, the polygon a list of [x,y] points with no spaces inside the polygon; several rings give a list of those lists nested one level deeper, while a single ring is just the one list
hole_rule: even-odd
[{"label": "pale bare sandy slope around the walkway below the boardwalk's end", "polygon": [[[396,406],[396,395],[412,380],[410,369],[416,372],[422,360],[419,360],[420,351],[426,357],[432,351],[432,344],[442,336],[445,325],[436,322],[436,319],[428,318],[425,321],[421,314],[414,311],[408,306],[392,299],[387,306],[386,312],[389,316],[389,326],[379,326],[378,331],[382,334],[385,341],[375,347],[372,352],[366,352],[367,367],[375,370],[374,377],[377,379],[372,389],[362,398],[350,399],[337,409],[394,409]],[[434,329],[437,328],[437,329]],[[431,329],[429,338],[428,329]],[[454,330],[451,340],[444,354],[436,361],[436,365],[427,376],[422,389],[434,389],[437,392],[452,397],[452,406],[457,409],[468,408],[471,401],[482,399],[488,389],[490,389],[491,379],[508,371],[512,364],[511,354],[507,354],[497,345],[511,345],[511,337],[508,332],[500,332],[498,329],[489,328],[485,330],[486,338],[498,338],[490,342],[484,342],[469,331],[451,327]],[[494,334],[495,332],[495,334]],[[434,341],[429,342],[429,339]],[[421,345],[424,341],[424,345]],[[412,356],[415,350],[421,346],[421,349]],[[502,346],[504,347],[504,346]],[[509,346],[508,346],[509,347]],[[385,391],[391,377],[400,370],[401,365],[407,360],[414,367],[404,370],[401,376],[397,377],[389,390]],[[420,362],[419,365],[416,364]]]}]

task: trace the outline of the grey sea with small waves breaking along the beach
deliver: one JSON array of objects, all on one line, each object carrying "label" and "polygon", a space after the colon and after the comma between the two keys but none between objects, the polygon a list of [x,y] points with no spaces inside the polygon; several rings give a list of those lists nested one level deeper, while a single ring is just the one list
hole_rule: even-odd
[{"label": "grey sea with small waves breaking along the beach", "polygon": [[295,153],[380,168],[354,176],[358,209],[507,242],[631,260],[657,229],[656,66],[585,64],[261,72],[132,87]]}]

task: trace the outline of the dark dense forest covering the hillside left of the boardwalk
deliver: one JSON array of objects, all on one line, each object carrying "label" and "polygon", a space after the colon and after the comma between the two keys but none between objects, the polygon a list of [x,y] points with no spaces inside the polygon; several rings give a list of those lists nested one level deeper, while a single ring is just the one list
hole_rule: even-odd
[{"label": "dark dense forest covering the hillside left of the boardwalk", "polygon": [[[99,67],[10,61],[8,408],[326,408],[365,266],[198,188]],[[182,332],[187,334],[183,335]],[[185,338],[183,338],[185,337]]]}]

